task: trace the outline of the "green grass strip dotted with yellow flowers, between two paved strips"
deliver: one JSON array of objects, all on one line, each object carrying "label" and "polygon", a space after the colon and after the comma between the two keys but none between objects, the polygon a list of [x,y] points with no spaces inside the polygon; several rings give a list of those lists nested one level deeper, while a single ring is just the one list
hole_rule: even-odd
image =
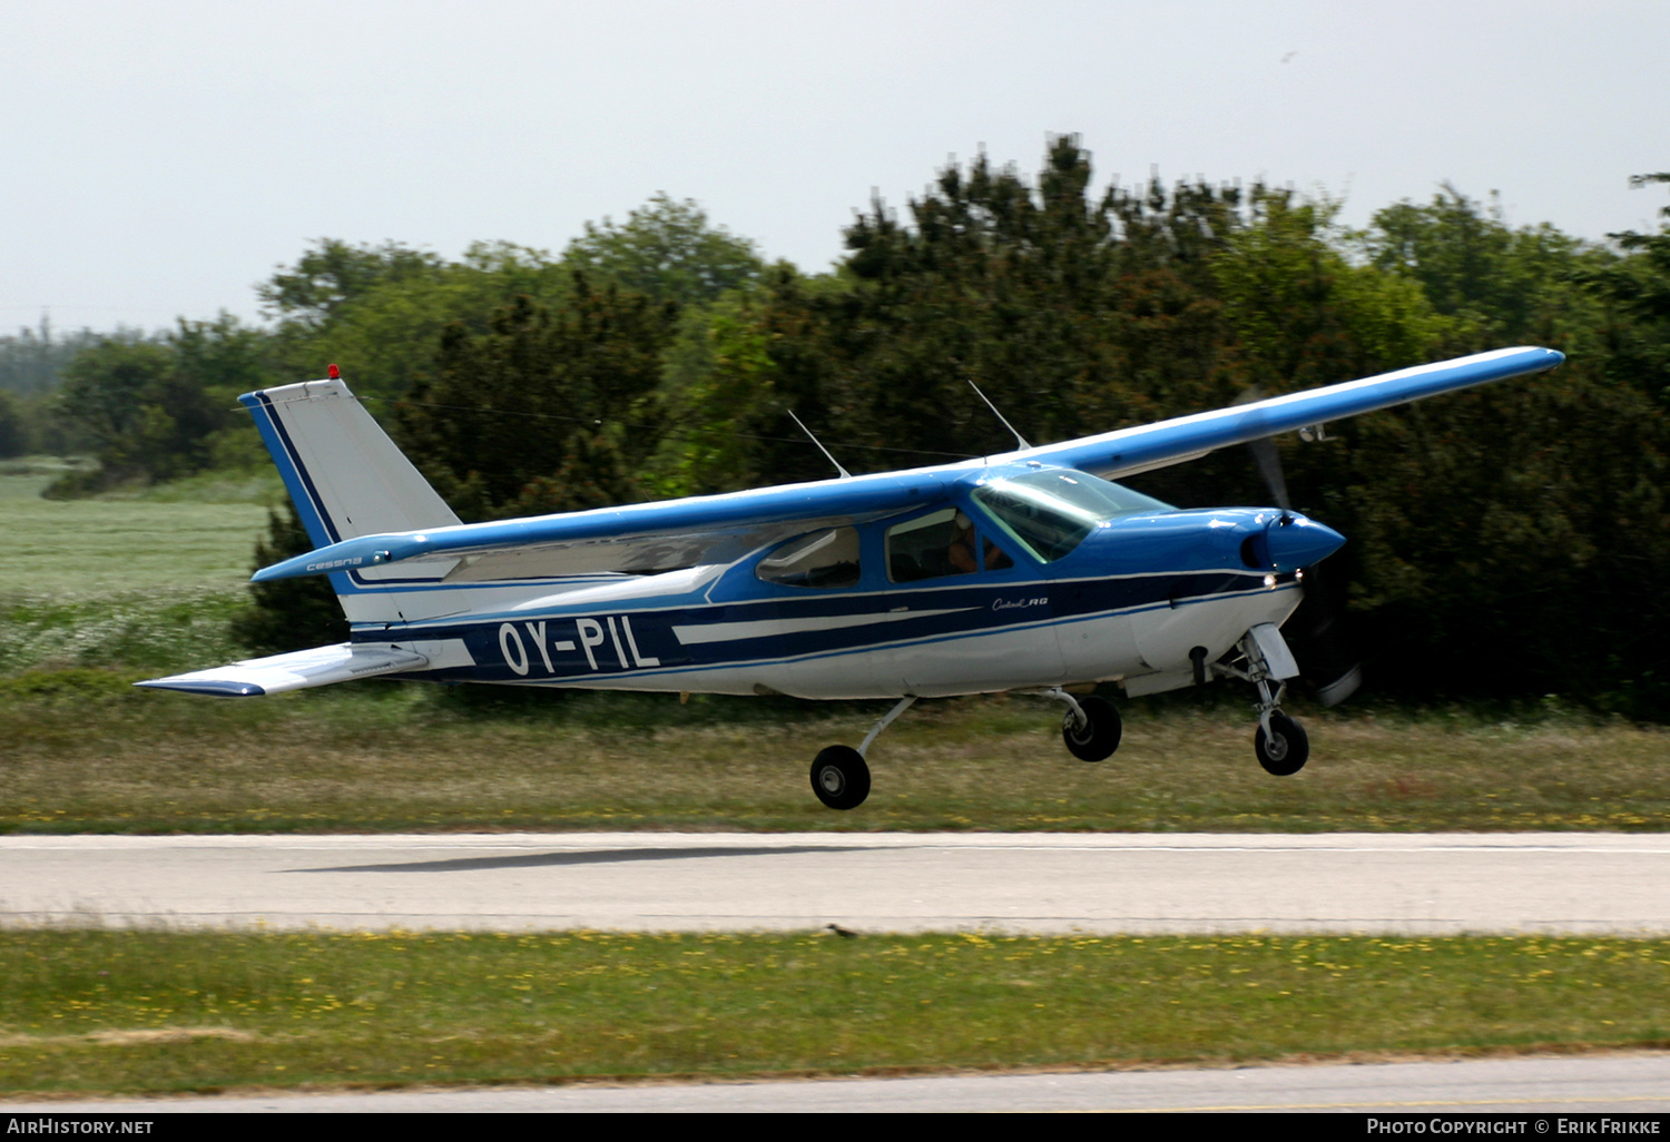
[{"label": "green grass strip dotted with yellow flowers, between two paved strips", "polygon": [[1670,940],[0,933],[0,1090],[1663,1045]]}]

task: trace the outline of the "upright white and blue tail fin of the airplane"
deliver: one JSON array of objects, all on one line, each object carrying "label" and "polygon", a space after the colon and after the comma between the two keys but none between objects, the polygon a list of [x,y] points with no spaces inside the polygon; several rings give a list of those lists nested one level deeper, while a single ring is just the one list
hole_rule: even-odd
[{"label": "upright white and blue tail fin of the airplane", "polygon": [[[239,401],[256,417],[316,548],[459,523],[341,381],[287,384]],[[451,566],[334,571],[331,584],[351,623],[412,619],[412,608],[399,606],[397,596],[404,588],[436,583]]]}]

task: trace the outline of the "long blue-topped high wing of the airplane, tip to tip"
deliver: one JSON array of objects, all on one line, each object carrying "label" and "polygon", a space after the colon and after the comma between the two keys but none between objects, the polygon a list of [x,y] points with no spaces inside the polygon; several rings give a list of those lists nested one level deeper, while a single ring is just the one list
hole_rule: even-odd
[{"label": "long blue-topped high wing of the airplane, tip to tip", "polygon": [[446,581],[458,583],[728,563],[772,538],[877,519],[932,503],[947,496],[955,481],[992,464],[1035,461],[1104,478],[1131,476],[1440,392],[1545,372],[1561,361],[1565,356],[1553,349],[1498,349],[957,464],[529,519],[361,534],[264,568],[254,578],[362,574],[382,564],[458,561],[446,573]]}]

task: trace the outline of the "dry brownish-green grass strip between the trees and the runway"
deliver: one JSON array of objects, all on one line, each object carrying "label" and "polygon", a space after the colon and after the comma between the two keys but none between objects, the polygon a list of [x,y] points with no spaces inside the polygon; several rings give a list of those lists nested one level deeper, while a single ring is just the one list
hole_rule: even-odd
[{"label": "dry brownish-green grass strip between the trees and the runway", "polygon": [[932,701],[837,813],[812,756],[885,703],[376,681],[224,701],[130,678],[0,678],[0,831],[1670,828],[1670,733],[1575,718],[1298,710],[1311,763],[1273,778],[1236,701],[1121,703],[1099,765],[1067,755],[1052,703]]}]

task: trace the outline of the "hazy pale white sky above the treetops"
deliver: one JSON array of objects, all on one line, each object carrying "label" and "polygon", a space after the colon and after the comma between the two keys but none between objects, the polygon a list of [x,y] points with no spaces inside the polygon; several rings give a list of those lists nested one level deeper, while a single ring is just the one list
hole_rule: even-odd
[{"label": "hazy pale white sky above the treetops", "polygon": [[656,190],[818,270],[984,144],[1655,229],[1665,0],[0,0],[0,331],[257,312],[319,237],[559,250]]}]

